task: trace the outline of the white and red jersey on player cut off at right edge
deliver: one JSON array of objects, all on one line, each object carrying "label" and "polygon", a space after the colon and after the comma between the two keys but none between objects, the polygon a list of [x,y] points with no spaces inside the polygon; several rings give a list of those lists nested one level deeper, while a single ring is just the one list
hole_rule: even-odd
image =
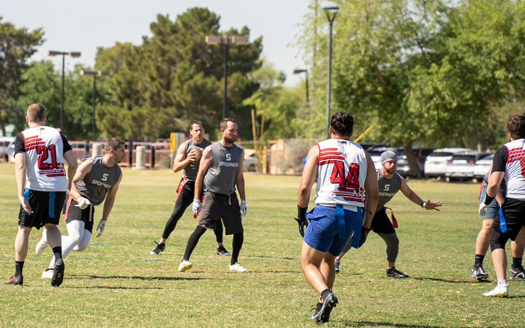
[{"label": "white and red jersey on player cut off at right edge", "polygon": [[503,145],[509,156],[505,164],[507,197],[525,200],[525,140],[518,139]]}]

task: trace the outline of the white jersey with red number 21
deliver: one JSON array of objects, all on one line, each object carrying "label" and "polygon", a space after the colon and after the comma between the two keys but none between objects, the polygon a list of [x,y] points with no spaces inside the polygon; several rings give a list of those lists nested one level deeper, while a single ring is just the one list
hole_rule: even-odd
[{"label": "white jersey with red number 21", "polygon": [[64,142],[60,132],[50,126],[37,126],[21,132],[26,156],[26,188],[41,192],[66,192]]}]

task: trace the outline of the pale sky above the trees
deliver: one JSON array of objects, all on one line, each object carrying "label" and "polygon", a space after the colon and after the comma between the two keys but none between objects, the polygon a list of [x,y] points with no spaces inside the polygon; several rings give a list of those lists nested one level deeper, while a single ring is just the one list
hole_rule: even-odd
[{"label": "pale sky above the trees", "polygon": [[292,69],[303,68],[299,49],[292,44],[300,34],[298,24],[308,13],[310,0],[0,0],[2,22],[28,29],[44,28],[45,43],[32,60],[50,59],[61,68],[61,56],[48,57],[48,50],[80,51],[80,58],[66,56],[66,69],[75,64],[93,67],[97,47],[112,47],[117,41],[142,44],[151,36],[150,24],[158,14],[171,20],[192,7],[208,7],[217,13],[222,30],[248,26],[253,39],[262,36],[262,56],[286,73],[286,84],[301,77]]}]

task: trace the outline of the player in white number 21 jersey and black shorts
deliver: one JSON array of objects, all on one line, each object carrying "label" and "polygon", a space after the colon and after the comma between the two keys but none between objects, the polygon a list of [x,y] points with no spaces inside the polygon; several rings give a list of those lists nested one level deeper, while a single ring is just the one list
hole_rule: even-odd
[{"label": "player in white number 21 jersey and black shorts", "polygon": [[[24,283],[22,270],[33,227],[45,227],[49,231],[49,245],[57,258],[50,272],[51,285],[58,287],[64,279],[60,230],[57,225],[78,164],[66,137],[57,129],[46,126],[46,119],[43,105],[30,105],[26,116],[29,129],[20,132],[15,140],[15,175],[20,212],[15,239],[15,274],[6,284]],[[64,160],[68,163],[67,177]]]}]

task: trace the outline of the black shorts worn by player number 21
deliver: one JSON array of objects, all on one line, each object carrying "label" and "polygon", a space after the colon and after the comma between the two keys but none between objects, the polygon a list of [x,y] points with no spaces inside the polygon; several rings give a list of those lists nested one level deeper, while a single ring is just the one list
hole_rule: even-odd
[{"label": "black shorts worn by player number 21", "polygon": [[39,192],[26,188],[24,198],[29,201],[33,214],[26,213],[20,205],[19,226],[40,229],[48,223],[58,225],[66,192]]}]

